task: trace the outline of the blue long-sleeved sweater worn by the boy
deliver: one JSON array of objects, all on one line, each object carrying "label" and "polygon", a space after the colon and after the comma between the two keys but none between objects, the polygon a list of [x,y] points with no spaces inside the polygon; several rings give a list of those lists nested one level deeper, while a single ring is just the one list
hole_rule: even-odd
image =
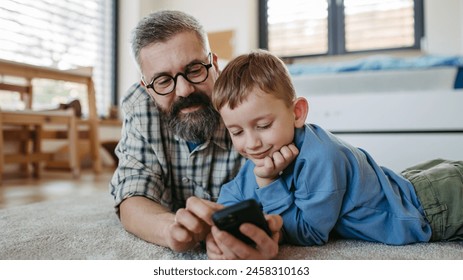
[{"label": "blue long-sleeved sweater worn by the boy", "polygon": [[431,227],[410,181],[317,125],[296,129],[294,143],[300,153],[277,180],[259,188],[248,160],[218,202],[256,199],[264,212],[282,216],[292,244],[321,245],[331,231],[394,245],[429,241]]}]

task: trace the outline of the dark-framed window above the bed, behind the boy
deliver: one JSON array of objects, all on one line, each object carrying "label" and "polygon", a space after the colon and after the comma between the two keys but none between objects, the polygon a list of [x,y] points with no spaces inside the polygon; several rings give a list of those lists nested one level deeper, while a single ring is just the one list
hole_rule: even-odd
[{"label": "dark-framed window above the bed, behind the boy", "polygon": [[419,49],[422,0],[259,0],[260,47],[281,57]]}]

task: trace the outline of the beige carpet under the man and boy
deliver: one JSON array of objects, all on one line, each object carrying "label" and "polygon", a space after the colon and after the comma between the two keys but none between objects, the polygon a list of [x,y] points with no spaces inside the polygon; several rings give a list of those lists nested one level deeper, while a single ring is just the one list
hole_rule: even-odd
[{"label": "beige carpet under the man and boy", "polygon": [[[463,242],[387,246],[337,240],[325,246],[282,246],[280,259],[463,259]],[[112,208],[111,197],[49,201],[0,210],[0,259],[140,260],[207,259],[197,248],[187,253],[144,242],[127,233]]]}]

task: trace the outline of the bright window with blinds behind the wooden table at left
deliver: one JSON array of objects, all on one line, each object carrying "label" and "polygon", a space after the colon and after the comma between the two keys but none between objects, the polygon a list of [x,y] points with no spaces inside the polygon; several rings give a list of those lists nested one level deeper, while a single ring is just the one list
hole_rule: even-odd
[{"label": "bright window with blinds behind the wooden table at left", "polygon": [[[116,99],[116,4],[116,0],[2,0],[0,59],[58,69],[92,67],[98,114],[107,115]],[[69,98],[79,98],[83,113],[88,112],[81,85],[34,80],[33,86],[34,109],[56,108]],[[18,100],[0,96],[5,108],[20,108]]]}]

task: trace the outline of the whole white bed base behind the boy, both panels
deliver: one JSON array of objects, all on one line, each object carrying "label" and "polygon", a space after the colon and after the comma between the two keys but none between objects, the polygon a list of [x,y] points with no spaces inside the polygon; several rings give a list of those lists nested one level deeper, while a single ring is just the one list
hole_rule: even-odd
[{"label": "whole white bed base behind the boy, both panels", "polygon": [[455,69],[293,77],[309,101],[307,122],[395,171],[434,158],[463,160],[463,90],[452,88],[454,79]]}]

